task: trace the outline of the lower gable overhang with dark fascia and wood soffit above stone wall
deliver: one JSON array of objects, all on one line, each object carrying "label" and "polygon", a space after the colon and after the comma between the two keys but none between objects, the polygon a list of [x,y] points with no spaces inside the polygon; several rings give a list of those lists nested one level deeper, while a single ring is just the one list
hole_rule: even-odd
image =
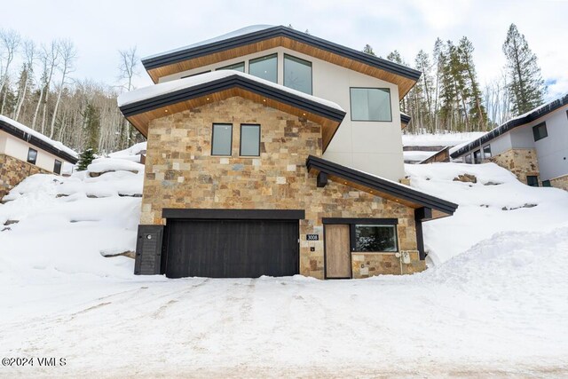
[{"label": "lower gable overhang with dark fascia and wood soffit above stone wall", "polygon": [[[160,84],[159,84],[160,85]],[[181,90],[160,94],[120,107],[122,114],[147,137],[149,123],[170,114],[191,110],[218,101],[239,96],[266,107],[317,122],[322,126],[323,150],[335,135],[345,112],[328,107],[312,99],[285,91],[274,85],[260,83],[246,75],[226,75],[217,80],[188,86]]]}]

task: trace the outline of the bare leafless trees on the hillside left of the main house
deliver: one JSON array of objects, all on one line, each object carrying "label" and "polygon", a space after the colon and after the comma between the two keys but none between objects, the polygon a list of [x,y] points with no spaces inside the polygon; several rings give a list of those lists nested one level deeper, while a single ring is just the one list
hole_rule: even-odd
[{"label": "bare leafless trees on the hillside left of the main house", "polygon": [[76,78],[77,59],[71,40],[37,45],[0,29],[0,114],[80,152],[108,153],[143,140],[116,105],[138,75],[136,47],[118,51],[116,85]]}]

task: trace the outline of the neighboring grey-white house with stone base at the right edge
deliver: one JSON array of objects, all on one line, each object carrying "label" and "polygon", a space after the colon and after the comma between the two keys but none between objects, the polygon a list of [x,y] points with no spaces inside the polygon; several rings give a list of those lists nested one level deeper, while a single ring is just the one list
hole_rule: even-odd
[{"label": "neighboring grey-white house with stone base at the right edge", "polygon": [[528,186],[568,190],[568,95],[503,123],[451,156],[465,163],[495,162]]}]

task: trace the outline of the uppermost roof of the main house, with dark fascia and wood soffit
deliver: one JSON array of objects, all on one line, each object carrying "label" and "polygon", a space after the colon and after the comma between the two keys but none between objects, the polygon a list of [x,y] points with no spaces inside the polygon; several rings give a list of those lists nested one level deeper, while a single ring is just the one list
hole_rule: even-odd
[{"label": "uppermost roof of the main house, with dark fascia and wood soffit", "polygon": [[413,68],[357,51],[292,28],[268,25],[239,29],[184,48],[142,59],[154,83],[162,76],[238,58],[257,51],[283,46],[312,57],[347,67],[389,83],[396,83],[402,99],[422,74]]}]

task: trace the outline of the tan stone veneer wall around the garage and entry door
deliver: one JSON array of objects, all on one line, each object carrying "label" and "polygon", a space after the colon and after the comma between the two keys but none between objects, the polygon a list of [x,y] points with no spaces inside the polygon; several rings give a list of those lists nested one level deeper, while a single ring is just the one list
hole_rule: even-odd
[{"label": "tan stone veneer wall around the garage and entry door", "polygon": [[[213,122],[233,123],[233,156],[210,155]],[[260,157],[239,157],[241,123],[261,125]],[[322,217],[396,217],[399,249],[415,253],[412,267],[403,272],[425,269],[418,259],[414,209],[332,181],[318,188],[305,160],[321,151],[319,124],[248,99],[226,99],[156,119],[148,131],[141,224],[165,224],[164,208],[304,209],[300,273],[322,279]],[[320,241],[306,241],[308,233],[319,234]],[[393,253],[359,256],[359,269],[364,265],[373,274],[400,273]],[[367,276],[359,272],[353,270],[353,277]]]}]

